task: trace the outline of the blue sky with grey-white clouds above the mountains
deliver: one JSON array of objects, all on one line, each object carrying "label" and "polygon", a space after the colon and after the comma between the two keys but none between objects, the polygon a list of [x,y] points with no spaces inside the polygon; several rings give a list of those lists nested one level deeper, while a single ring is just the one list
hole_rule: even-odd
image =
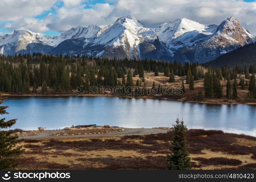
[{"label": "blue sky with grey-white clouds above the mountains", "polygon": [[256,35],[255,0],[0,0],[0,32],[19,28],[59,35],[72,27],[104,27],[131,15],[148,27],[178,18],[220,24],[236,17]]}]

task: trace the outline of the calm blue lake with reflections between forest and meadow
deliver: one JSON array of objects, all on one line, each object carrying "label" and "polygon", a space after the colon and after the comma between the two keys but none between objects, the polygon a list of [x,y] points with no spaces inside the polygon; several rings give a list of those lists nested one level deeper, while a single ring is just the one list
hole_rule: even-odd
[{"label": "calm blue lake with reflections between forest and meadow", "polygon": [[[36,96],[9,97],[9,115],[17,118],[12,128],[57,129],[79,124],[109,124],[128,128],[171,127],[183,118],[188,128],[218,129],[256,136],[256,105],[199,104],[170,100]],[[1,118],[4,116],[2,115]]]}]

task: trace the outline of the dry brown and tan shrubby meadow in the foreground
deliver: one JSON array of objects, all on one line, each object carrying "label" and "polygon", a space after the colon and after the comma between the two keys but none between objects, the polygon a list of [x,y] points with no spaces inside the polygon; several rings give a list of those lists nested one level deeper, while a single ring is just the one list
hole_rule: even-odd
[{"label": "dry brown and tan shrubby meadow in the foreground", "polygon": [[[165,169],[172,134],[27,140],[18,169]],[[192,169],[255,169],[255,137],[189,130],[187,139]]]}]

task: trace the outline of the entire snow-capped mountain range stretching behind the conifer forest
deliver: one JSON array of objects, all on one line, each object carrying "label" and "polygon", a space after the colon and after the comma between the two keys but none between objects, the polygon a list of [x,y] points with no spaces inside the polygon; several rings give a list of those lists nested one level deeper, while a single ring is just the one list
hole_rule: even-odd
[{"label": "entire snow-capped mountain range stretching behind the conifer forest", "polygon": [[234,17],[220,25],[182,18],[149,28],[128,15],[107,27],[78,26],[60,36],[34,33],[26,28],[0,33],[0,54],[41,52],[204,63],[255,40]]}]

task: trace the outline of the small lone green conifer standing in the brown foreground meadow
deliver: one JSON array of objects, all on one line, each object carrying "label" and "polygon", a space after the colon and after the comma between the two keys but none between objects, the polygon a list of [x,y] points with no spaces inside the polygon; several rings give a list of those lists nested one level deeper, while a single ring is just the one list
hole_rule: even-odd
[{"label": "small lone green conifer standing in the brown foreground meadow", "polygon": [[169,170],[188,170],[191,168],[191,159],[187,150],[187,126],[184,125],[183,120],[177,118],[173,128],[174,134],[170,146],[173,153],[167,155],[166,167]]}]

